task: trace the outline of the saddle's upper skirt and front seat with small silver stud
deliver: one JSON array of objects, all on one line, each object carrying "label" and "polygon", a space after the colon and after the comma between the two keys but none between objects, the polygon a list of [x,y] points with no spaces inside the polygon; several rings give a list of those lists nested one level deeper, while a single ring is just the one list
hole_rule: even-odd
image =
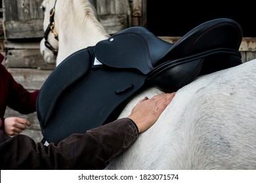
[{"label": "saddle's upper skirt and front seat with small silver stud", "polygon": [[95,57],[110,67],[138,69],[146,75],[172,45],[144,27],[129,27],[98,42]]}]

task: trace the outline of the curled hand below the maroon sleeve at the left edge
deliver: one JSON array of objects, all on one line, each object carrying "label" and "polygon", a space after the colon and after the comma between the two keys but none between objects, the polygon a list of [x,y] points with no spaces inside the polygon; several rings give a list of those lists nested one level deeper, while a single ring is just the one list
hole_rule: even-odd
[{"label": "curled hand below the maroon sleeve at the left edge", "polygon": [[9,117],[5,118],[5,133],[7,135],[18,135],[24,129],[26,129],[27,125],[30,125],[30,122],[23,118],[18,117]]}]

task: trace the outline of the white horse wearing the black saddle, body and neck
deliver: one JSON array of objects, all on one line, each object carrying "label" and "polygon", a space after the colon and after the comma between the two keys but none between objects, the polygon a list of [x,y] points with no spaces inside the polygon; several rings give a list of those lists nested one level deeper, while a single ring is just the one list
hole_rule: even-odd
[{"label": "white horse wearing the black saddle, body and neck", "polygon": [[[54,0],[44,3],[48,14]],[[55,8],[57,63],[108,37],[88,0],[57,1]],[[119,117],[156,93],[139,93]],[[256,169],[256,59],[181,88],[158,122],[106,169]]]}]

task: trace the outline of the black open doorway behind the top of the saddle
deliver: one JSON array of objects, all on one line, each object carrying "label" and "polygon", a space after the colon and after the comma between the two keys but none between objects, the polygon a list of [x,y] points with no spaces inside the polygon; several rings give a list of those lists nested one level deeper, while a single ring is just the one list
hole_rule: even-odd
[{"label": "black open doorway behind the top of the saddle", "polygon": [[158,36],[181,37],[208,20],[231,18],[242,26],[244,37],[256,37],[255,6],[234,2],[147,1],[147,27]]}]

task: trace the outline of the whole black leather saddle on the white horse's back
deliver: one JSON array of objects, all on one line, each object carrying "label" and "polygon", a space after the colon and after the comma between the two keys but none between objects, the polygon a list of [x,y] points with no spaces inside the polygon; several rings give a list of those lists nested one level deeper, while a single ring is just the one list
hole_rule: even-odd
[{"label": "whole black leather saddle on the white horse's back", "polygon": [[44,139],[59,142],[116,120],[148,86],[175,92],[200,75],[240,65],[242,28],[219,18],[175,44],[129,27],[64,59],[43,84],[37,116]]}]

